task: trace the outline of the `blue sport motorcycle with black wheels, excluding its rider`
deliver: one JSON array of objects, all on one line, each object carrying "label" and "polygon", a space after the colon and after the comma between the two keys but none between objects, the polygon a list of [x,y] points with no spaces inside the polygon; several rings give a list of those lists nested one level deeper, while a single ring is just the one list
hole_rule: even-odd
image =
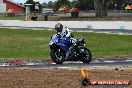
[{"label": "blue sport motorcycle with black wheels, excluding its rider", "polygon": [[76,47],[73,48],[71,57],[66,59],[68,45],[62,47],[62,39],[60,39],[57,35],[52,36],[49,43],[51,59],[56,64],[62,64],[64,61],[82,61],[83,63],[91,62],[92,54],[90,50],[85,47],[84,38],[77,39],[76,44]]}]

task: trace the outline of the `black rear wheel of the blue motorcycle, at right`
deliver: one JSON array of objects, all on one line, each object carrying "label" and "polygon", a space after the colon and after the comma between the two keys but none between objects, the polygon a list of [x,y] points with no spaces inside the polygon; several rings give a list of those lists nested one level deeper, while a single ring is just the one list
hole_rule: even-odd
[{"label": "black rear wheel of the blue motorcycle, at right", "polygon": [[91,62],[92,60],[92,54],[91,54],[91,51],[85,47],[81,47],[80,50],[83,50],[82,52],[82,58],[81,58],[81,61],[83,63],[89,63]]}]

